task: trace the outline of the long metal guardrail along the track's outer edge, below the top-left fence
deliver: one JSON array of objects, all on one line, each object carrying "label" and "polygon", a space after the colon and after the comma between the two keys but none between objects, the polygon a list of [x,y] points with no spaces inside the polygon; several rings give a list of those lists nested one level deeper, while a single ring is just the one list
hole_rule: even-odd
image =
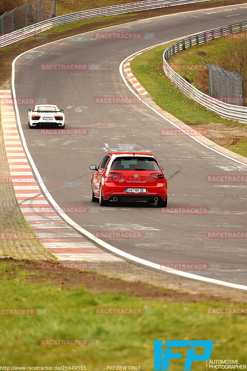
[{"label": "long metal guardrail along the track's outer edge, below the top-left fence", "polygon": [[123,14],[131,12],[140,12],[141,10],[158,9],[170,6],[201,3],[211,0],[148,0],[140,1],[138,3],[120,4],[114,6],[107,6],[104,8],[89,9],[82,12],[66,14],[60,17],[45,20],[43,22],[35,23],[31,26],[24,27],[20,30],[0,36],[0,47],[10,45],[14,42],[26,39],[27,37],[37,35],[38,33],[49,30],[51,27],[60,26],[61,24],[79,21],[81,19],[90,19],[94,17],[109,16],[113,14]]}]

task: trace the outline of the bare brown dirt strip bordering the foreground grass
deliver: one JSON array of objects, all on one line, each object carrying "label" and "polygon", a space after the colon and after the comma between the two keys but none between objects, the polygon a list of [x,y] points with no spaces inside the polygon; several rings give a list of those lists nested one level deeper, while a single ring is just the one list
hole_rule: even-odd
[{"label": "bare brown dirt strip bordering the foreground grass", "polygon": [[[232,302],[231,299],[222,299],[219,296],[205,295],[203,293],[185,293],[177,290],[170,290],[151,285],[144,282],[130,282],[119,278],[111,278],[97,272],[88,270],[44,270],[41,269],[42,264],[53,264],[53,262],[40,261],[22,261],[14,259],[0,259],[1,262],[11,262],[11,268],[8,268],[4,273],[4,277],[14,279],[14,270],[27,270],[30,273],[35,273],[26,277],[29,283],[43,283],[44,285],[58,285],[62,290],[82,285],[91,293],[120,293],[123,295],[132,295],[140,299],[156,300],[166,302]],[[71,263],[71,262],[70,262]]]}]

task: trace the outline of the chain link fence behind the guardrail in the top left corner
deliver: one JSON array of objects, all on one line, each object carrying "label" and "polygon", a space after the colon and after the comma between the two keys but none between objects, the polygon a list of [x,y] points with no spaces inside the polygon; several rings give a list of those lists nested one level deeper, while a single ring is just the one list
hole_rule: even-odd
[{"label": "chain link fence behind the guardrail in the top left corner", "polygon": [[0,16],[0,34],[4,35],[56,17],[56,0],[33,0]]}]

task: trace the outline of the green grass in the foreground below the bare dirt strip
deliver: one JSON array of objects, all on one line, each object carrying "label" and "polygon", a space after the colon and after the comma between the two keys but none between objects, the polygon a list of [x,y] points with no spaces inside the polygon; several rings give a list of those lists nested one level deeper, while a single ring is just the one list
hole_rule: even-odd
[{"label": "green grass in the foreground below the bare dirt strip", "polygon": [[[220,340],[221,344],[213,347],[212,359],[239,359],[244,363],[247,353],[244,316],[206,315],[208,306],[229,304],[141,301],[114,293],[93,295],[82,286],[62,291],[57,285],[28,283],[33,272],[12,270],[11,263],[0,263],[1,308],[43,308],[48,314],[1,316],[2,365],[86,365],[89,371],[102,371],[107,365],[140,365],[144,370],[153,370],[155,339]],[[155,313],[95,315],[94,308],[101,306],[148,306],[155,308]],[[90,338],[99,339],[101,344],[42,347],[42,338]],[[171,371],[183,370],[185,353],[184,349],[177,349],[180,350],[183,357],[171,361]],[[192,370],[205,367],[205,362],[195,362]]]}]

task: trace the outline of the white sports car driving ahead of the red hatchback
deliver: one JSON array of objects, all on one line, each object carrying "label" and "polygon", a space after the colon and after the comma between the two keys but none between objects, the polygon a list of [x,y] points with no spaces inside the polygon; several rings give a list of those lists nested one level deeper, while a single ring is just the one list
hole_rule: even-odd
[{"label": "white sports car driving ahead of the red hatchback", "polygon": [[32,109],[28,109],[28,125],[29,129],[44,125],[56,125],[59,128],[64,128],[64,112],[53,104],[37,104]]}]

